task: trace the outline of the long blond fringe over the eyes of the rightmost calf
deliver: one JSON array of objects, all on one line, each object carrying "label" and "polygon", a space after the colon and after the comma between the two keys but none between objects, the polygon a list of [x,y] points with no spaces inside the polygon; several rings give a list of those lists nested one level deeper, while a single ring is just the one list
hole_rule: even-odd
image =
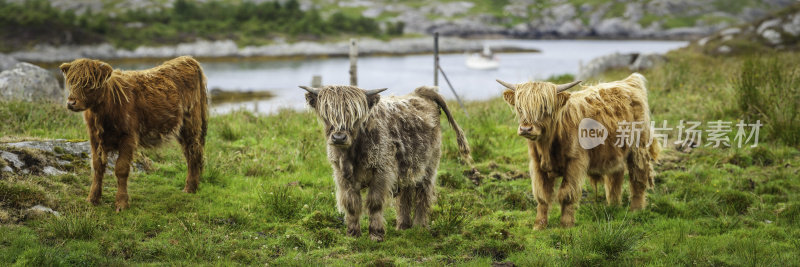
[{"label": "long blond fringe over the eyes of the rightmost calf", "polygon": [[544,82],[527,82],[517,85],[514,100],[516,113],[525,123],[534,123],[540,116],[553,114],[556,104],[556,85]]}]

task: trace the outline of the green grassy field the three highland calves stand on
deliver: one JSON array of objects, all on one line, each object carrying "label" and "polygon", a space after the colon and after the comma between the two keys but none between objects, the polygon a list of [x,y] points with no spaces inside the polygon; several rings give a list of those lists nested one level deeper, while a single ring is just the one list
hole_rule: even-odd
[{"label": "green grassy field the three highland calves stand on", "polygon": [[[718,119],[797,123],[748,110],[748,103],[791,109],[797,100],[790,64],[800,54],[772,58],[670,54],[665,65],[643,73],[654,119],[670,126]],[[767,82],[763,68],[748,70],[747,64],[784,64],[789,71],[766,68],[784,78]],[[612,71],[597,80],[628,74]],[[757,97],[742,99],[748,77],[786,90],[755,85]],[[55,177],[1,178],[0,265],[800,265],[800,151],[791,133],[782,137],[783,128],[765,126],[757,148],[667,148],[645,210],[629,212],[627,201],[605,206],[602,189],[597,195],[586,185],[574,228],[557,226],[556,207],[551,227],[533,231],[527,149],[511,110],[499,99],[468,103],[469,117],[454,103],[451,108],[482,176],[465,177],[453,131],[443,126],[430,229],[394,230],[389,208],[385,242],[346,237],[314,116],[240,112],[211,118],[196,195],[180,191],[186,166],[177,144],[144,152],[154,170],[132,174],[131,208],[119,214],[113,212],[113,175],[106,176],[101,205],[84,201],[88,165]],[[62,107],[2,103],[0,118],[6,140],[86,138],[80,115]],[[38,203],[62,216],[19,212]],[[364,233],[366,225],[364,217]]]}]

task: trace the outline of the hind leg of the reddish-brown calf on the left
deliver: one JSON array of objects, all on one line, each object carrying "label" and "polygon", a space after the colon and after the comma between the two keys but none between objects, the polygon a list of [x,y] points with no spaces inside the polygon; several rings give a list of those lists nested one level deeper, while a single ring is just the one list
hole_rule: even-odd
[{"label": "hind leg of the reddish-brown calf on the left", "polygon": [[198,123],[187,124],[184,122],[180,132],[179,141],[183,147],[183,156],[189,169],[186,175],[186,186],[183,192],[194,193],[200,184],[200,173],[203,171],[203,140],[202,130]]}]

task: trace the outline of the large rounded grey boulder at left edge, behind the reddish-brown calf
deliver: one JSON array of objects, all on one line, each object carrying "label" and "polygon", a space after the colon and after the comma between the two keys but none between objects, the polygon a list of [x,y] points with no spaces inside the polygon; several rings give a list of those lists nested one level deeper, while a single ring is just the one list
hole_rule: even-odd
[{"label": "large rounded grey boulder at left edge, behind the reddish-brown calf", "polygon": [[0,73],[0,100],[64,100],[64,90],[47,70],[29,63],[17,63]]}]

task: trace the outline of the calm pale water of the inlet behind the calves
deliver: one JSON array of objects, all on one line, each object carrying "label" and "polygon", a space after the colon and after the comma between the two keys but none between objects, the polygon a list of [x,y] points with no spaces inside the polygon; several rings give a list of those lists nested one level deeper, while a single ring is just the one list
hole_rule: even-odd
[{"label": "calm pale water of the inlet behind the calves", "polygon": [[[541,80],[552,75],[575,74],[580,64],[593,58],[619,53],[664,53],[683,47],[684,41],[603,41],[603,40],[488,40],[489,45],[511,43],[536,48],[541,53],[498,53],[500,67],[474,70],[465,66],[464,54],[440,55],[440,64],[462,99],[482,100],[500,96],[495,79],[508,82]],[[276,96],[268,100],[215,105],[213,113],[248,109],[273,113],[282,108],[305,108],[305,91],[312,76],[321,75],[323,84],[349,84],[349,59],[313,58],[268,61],[201,62],[208,76],[209,88],[223,90],[269,90]],[[120,63],[121,69],[145,69],[158,63]],[[433,55],[361,57],[358,60],[358,84],[364,89],[389,88],[383,95],[403,95],[415,88],[433,84]],[[439,92],[453,99],[453,93],[439,76]]]}]

